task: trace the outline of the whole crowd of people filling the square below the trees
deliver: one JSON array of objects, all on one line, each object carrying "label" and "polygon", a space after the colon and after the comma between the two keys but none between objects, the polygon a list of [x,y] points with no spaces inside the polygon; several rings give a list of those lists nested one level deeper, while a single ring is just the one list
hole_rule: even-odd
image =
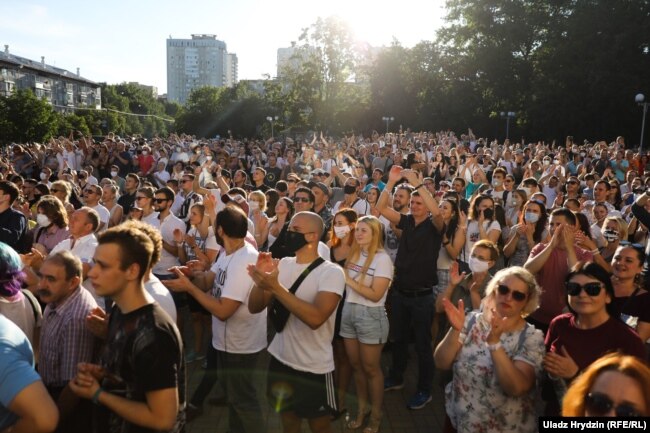
[{"label": "whole crowd of people filling the square below the trees", "polygon": [[12,144],[0,432],[181,432],[218,384],[233,433],[267,403],[285,432],[376,433],[411,342],[407,407],[443,386],[449,432],[650,416],[649,227],[623,137]]}]

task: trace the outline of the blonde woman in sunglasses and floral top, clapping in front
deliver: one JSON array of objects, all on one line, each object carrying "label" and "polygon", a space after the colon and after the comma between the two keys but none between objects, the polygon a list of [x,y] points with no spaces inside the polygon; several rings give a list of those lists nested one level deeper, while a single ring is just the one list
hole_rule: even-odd
[{"label": "blonde woman in sunglasses and floral top, clapping in front", "polygon": [[451,329],[434,352],[436,367],[453,370],[445,390],[447,419],[460,433],[534,432],[535,384],[542,371],[544,336],[524,319],[539,306],[541,289],[526,269],[496,273],[482,310],[465,313],[448,299]]}]

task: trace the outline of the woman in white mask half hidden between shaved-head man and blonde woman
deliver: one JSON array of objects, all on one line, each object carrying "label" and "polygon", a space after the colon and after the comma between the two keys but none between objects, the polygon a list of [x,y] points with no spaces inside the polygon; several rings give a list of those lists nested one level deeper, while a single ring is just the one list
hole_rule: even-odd
[{"label": "woman in white mask half hidden between shaved-head man and blonde woman", "polygon": [[[354,242],[354,229],[357,222],[357,213],[352,209],[341,209],[334,215],[332,228],[330,229],[330,261],[336,263],[342,268],[345,266],[345,261],[350,255],[352,244]],[[350,380],[352,379],[352,366],[345,351],[343,344],[343,337],[339,335],[341,330],[341,315],[343,313],[343,304],[345,303],[346,292],[343,292],[343,297],[339,306],[336,309],[336,321],[334,322],[334,340],[332,345],[334,347],[334,372],[336,376],[336,389],[338,401],[340,404],[339,413],[347,413],[345,407],[346,395]]]}]

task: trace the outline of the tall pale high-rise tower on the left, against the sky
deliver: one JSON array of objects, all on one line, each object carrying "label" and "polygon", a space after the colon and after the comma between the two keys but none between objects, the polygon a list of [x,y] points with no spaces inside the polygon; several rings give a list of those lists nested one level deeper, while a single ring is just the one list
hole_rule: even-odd
[{"label": "tall pale high-rise tower on the left, against the sky", "polygon": [[226,43],[218,40],[216,35],[200,34],[192,35],[192,39],[167,39],[169,101],[184,104],[192,90],[198,87],[223,87],[229,83],[233,85],[236,81],[237,56],[229,55]]}]

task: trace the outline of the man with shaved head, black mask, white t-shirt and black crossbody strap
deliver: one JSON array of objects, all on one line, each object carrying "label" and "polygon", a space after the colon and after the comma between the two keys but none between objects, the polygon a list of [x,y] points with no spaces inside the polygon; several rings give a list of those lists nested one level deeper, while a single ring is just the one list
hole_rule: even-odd
[{"label": "man with shaved head, black mask, white t-shirt and black crossbody strap", "polygon": [[287,232],[287,248],[296,256],[277,262],[261,253],[248,268],[255,281],[248,309],[260,313],[274,299],[290,313],[268,349],[267,397],[281,413],[285,432],[298,431],[304,418],[312,432],[329,432],[337,410],[332,337],[334,312],[345,287],[343,270],[325,261],[309,272],[295,294],[289,291],[318,258],[322,231],[323,220],[317,214],[299,212]]}]

